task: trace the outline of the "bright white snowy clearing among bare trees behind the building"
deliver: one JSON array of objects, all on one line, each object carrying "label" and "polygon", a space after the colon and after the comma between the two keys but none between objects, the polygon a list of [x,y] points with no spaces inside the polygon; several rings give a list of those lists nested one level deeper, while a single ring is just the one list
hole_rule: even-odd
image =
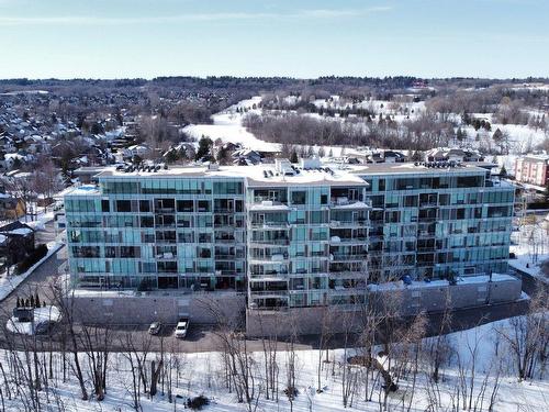
[{"label": "bright white snowy clearing among bare trees behind the building", "polygon": [[[206,136],[212,141],[221,138],[223,142],[239,143],[245,148],[254,151],[278,152],[280,151],[279,144],[260,141],[242,125],[242,120],[247,113],[261,112],[261,109],[257,109],[260,101],[260,96],[243,100],[212,115],[213,124],[190,124],[183,127],[183,131],[195,140]],[[256,104],[256,109],[254,109],[254,104]],[[246,113],[237,112],[237,109],[245,109]]]}]

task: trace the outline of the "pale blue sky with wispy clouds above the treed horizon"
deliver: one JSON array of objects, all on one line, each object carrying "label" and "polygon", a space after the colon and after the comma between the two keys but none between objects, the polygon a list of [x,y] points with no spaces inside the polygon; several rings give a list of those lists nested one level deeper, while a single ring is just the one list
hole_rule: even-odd
[{"label": "pale blue sky with wispy clouds above the treed horizon", "polygon": [[0,78],[549,77],[549,0],[0,0]]}]

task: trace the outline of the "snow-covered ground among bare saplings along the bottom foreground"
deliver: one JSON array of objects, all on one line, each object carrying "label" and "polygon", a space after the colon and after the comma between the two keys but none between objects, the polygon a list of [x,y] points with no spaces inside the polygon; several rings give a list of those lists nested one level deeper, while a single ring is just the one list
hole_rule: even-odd
[{"label": "snow-covered ground among bare saplings along the bottom foreground", "polygon": [[[458,332],[449,335],[448,342],[451,356],[449,361],[441,367],[438,385],[435,385],[429,379],[428,372],[428,344],[432,339],[424,339],[419,356],[419,369],[416,379],[413,379],[412,370],[408,369],[399,379],[399,389],[391,393],[388,401],[389,411],[452,411],[460,410],[462,400],[456,400],[455,396],[460,386],[466,385],[467,393],[472,393],[472,402],[474,411],[488,411],[490,397],[495,383],[495,376],[498,374],[500,387],[495,396],[495,404],[493,411],[500,412],[537,412],[549,410],[549,381],[545,380],[527,380],[518,381],[513,370],[513,357],[508,355],[507,346],[503,334],[511,331],[508,321],[500,321],[492,324],[485,324],[472,330]],[[175,341],[166,342],[166,353],[164,354],[165,363],[170,365],[170,374],[172,381],[172,394],[177,398],[176,404],[169,403],[167,398],[167,381],[165,377],[164,383],[159,383],[159,393],[154,399],[143,393],[141,389],[141,410],[142,411],[180,411],[183,410],[183,401],[187,397],[204,394],[211,400],[205,411],[246,411],[248,405],[238,403],[234,391],[228,392],[225,386],[224,364],[222,353],[197,353],[197,354],[178,354],[171,353],[170,345]],[[177,343],[176,343],[177,344]],[[251,370],[255,382],[255,396],[258,396],[257,403],[254,400],[251,411],[274,412],[289,411],[290,403],[283,393],[287,387],[287,365],[291,358],[291,353],[287,352],[287,346],[283,343],[278,344],[277,365],[278,365],[278,401],[267,400],[265,396],[265,368],[264,354],[255,353],[251,355]],[[143,357],[143,353],[137,353]],[[369,388],[373,391],[371,401],[365,401],[365,375],[360,366],[346,367],[346,359],[356,354],[355,350],[329,350],[327,361],[322,363],[318,376],[317,350],[298,350],[295,352],[295,387],[299,391],[294,402],[293,410],[296,412],[305,411],[380,411],[379,403],[382,393],[381,379],[376,377],[370,379]],[[52,356],[52,360],[49,360]],[[37,354],[35,359],[49,365],[53,368],[52,376],[48,378],[47,397],[46,388],[43,385],[40,391],[40,399],[43,410],[52,411],[130,411],[133,404],[133,379],[138,380],[138,375],[132,375],[132,366],[128,357],[132,356],[133,370],[136,371],[136,354],[135,353],[119,353],[109,355],[109,368],[107,376],[107,396],[102,402],[94,400],[81,401],[80,391],[75,377],[75,374],[68,372],[67,380],[63,381],[63,361],[61,354]],[[325,357],[325,352],[323,350]],[[20,357],[24,363],[24,354],[20,353]],[[71,361],[67,357],[67,361]],[[89,370],[88,357],[86,354],[80,354],[81,365],[86,377],[86,387],[88,392],[92,390],[91,375]],[[150,360],[158,361],[159,354],[149,353],[145,363],[145,371],[147,377],[150,370]],[[7,350],[0,350],[0,361],[4,365],[4,370],[11,381],[11,399],[8,399],[3,376],[0,375],[0,386],[4,390],[3,397],[7,411],[24,410],[24,402],[30,402],[26,382],[21,380],[19,393],[14,390],[14,377],[11,368],[15,363],[12,361],[13,356]],[[97,360],[97,359],[96,359]],[[378,360],[386,367],[386,358],[379,356]],[[32,360],[30,360],[32,361]],[[394,360],[393,360],[394,361]],[[471,377],[472,367],[474,364],[474,377]],[[24,365],[24,364],[23,364]],[[70,367],[68,366],[69,370]],[[393,369],[395,368],[393,364]],[[392,370],[393,370],[392,369]],[[356,393],[352,399],[352,405],[344,409],[343,407],[343,374],[356,377]],[[460,370],[464,371],[466,380],[460,380]],[[45,374],[44,374],[45,375]],[[49,375],[49,374],[48,374]],[[377,374],[374,374],[377,376]],[[485,378],[488,379],[485,380]],[[394,376],[393,376],[394,378]],[[148,379],[148,378],[147,378]],[[471,385],[473,383],[473,385]],[[412,387],[413,399],[412,399]],[[164,394],[163,394],[164,393]],[[429,396],[430,394],[430,396]],[[22,399],[25,399],[23,401]],[[434,399],[437,399],[439,404],[434,404]],[[480,403],[482,399],[482,404]],[[479,400],[479,401],[477,401]],[[459,405],[452,409],[452,402],[458,402]],[[410,409],[408,409],[410,407]],[[470,409],[473,411],[473,408]]]}]

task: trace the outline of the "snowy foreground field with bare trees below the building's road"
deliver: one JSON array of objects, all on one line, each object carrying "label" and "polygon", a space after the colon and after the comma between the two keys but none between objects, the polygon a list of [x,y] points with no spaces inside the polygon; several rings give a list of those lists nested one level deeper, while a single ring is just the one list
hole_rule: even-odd
[{"label": "snowy foreground field with bare trees below the building's road", "polygon": [[[429,353],[434,338],[424,338],[418,341],[419,344],[407,346],[392,345],[391,366],[386,356],[377,356],[384,369],[390,368],[393,381],[397,385],[397,390],[389,394],[386,410],[481,412],[489,411],[493,403],[492,411],[548,411],[547,377],[539,379],[536,375],[534,379],[523,381],[516,377],[514,357],[509,355],[508,345],[502,337],[509,336],[513,322],[500,321],[448,335],[445,342],[449,355],[440,365],[438,382],[433,380],[430,369],[433,358]],[[101,402],[80,400],[80,388],[70,366],[70,354],[66,354],[64,369],[60,353],[37,353],[36,356],[29,353],[26,356],[22,352],[1,350],[0,363],[5,372],[3,376],[0,374],[2,402],[7,411],[30,410],[29,407],[38,402],[44,411],[180,411],[183,410],[182,403],[187,397],[203,394],[211,401],[205,411],[290,411],[290,401],[283,390],[288,386],[288,377],[292,376],[288,374],[291,370],[288,368],[293,366],[294,387],[298,390],[293,400],[294,411],[382,410],[380,402],[383,402],[383,379],[380,374],[373,371],[373,368],[366,374],[362,366],[349,366],[346,363],[350,356],[361,352],[337,349],[328,350],[326,356],[325,350],[292,352],[287,344],[278,345],[274,358],[277,367],[273,369],[277,383],[270,399],[266,398],[265,354],[244,356],[251,374],[248,379],[250,393],[253,392],[249,404],[239,403],[234,388],[232,391],[227,389],[223,353],[177,354],[171,352],[168,343],[164,363],[169,367],[159,380],[158,394],[154,399],[143,389],[137,365],[144,365],[148,387],[150,361],[156,360],[158,365],[160,355],[128,349],[127,353],[109,354],[107,393]],[[91,353],[79,355],[90,399],[93,398],[90,368],[92,359],[99,361],[99,353],[93,353],[94,358]],[[269,354],[272,355],[272,352]],[[272,359],[270,356],[268,358]],[[417,364],[413,359],[417,359]],[[38,365],[36,369],[35,363]],[[41,390],[31,391],[27,379],[35,370],[41,376]],[[318,388],[321,391],[317,391]],[[32,393],[35,394],[34,398]],[[344,397],[347,398],[347,408],[343,407]],[[366,401],[365,398],[369,400]]]}]

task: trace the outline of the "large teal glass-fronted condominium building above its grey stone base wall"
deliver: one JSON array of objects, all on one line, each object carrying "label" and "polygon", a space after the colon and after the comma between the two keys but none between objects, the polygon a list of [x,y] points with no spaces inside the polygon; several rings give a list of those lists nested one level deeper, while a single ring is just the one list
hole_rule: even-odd
[{"label": "large teal glass-fronted condominium building above its grey stone base wall", "polygon": [[[433,167],[432,167],[433,166]],[[65,198],[81,287],[354,304],[370,282],[505,272],[514,188],[471,165],[115,170]]]}]

